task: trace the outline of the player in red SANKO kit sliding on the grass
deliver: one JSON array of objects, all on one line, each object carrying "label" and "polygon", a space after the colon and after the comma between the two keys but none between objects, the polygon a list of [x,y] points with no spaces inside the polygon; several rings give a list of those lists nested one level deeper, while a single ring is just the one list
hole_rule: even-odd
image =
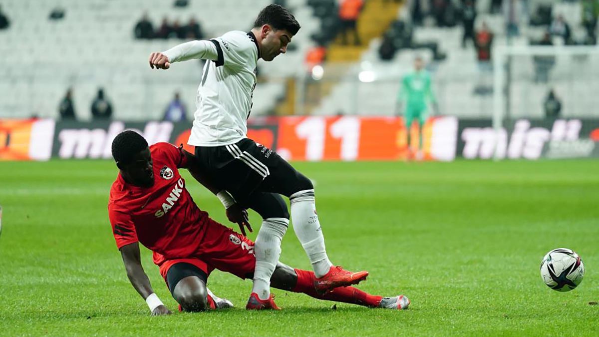
[{"label": "player in red SANKO kit sliding on the grass", "polygon": [[[195,157],[170,143],[148,146],[134,131],[124,131],[113,141],[112,153],[119,175],[112,185],[108,216],[129,281],[143,297],[152,315],[170,314],[153,292],[143,270],[139,243],[153,251],[153,260],[174,299],[183,311],[232,306],[206,287],[213,269],[252,278],[256,258],[254,243],[242,234],[214,221],[196,206],[178,169],[192,176],[214,194],[218,188],[205,178]],[[232,199],[231,199],[232,200]],[[226,208],[232,222],[247,224],[246,210],[232,201]],[[317,299],[353,303],[371,308],[406,309],[406,296],[374,296],[354,287],[340,287],[320,294],[314,290],[313,272],[277,264],[271,278],[275,288],[305,293]],[[250,297],[247,309],[279,309],[273,296]]]}]

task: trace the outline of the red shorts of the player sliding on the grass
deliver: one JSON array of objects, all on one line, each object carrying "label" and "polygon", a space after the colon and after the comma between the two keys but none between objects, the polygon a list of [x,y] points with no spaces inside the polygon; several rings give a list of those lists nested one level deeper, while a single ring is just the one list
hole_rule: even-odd
[{"label": "red shorts of the player sliding on the grass", "polygon": [[160,265],[160,275],[165,281],[168,269],[182,262],[193,264],[206,275],[210,275],[214,269],[232,273],[242,279],[253,275],[256,257],[252,240],[213,219],[205,222],[203,230],[201,245],[193,256],[166,260]]}]

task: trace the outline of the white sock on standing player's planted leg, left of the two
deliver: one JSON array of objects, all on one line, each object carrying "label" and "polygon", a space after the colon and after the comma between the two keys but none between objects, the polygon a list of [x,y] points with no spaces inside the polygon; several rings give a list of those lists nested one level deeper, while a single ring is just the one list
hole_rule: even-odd
[{"label": "white sock on standing player's planted leg, left of the two", "polygon": [[270,278],[281,255],[281,240],[289,226],[289,219],[268,218],[262,221],[254,245],[256,269],[254,270],[252,293],[261,300],[270,296]]}]

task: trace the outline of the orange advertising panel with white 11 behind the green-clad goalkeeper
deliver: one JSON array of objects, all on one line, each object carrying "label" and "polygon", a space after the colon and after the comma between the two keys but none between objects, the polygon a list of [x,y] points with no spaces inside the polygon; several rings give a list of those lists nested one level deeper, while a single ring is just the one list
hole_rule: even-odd
[{"label": "orange advertising panel with white 11 behind the green-clad goalkeeper", "polygon": [[[429,119],[423,127],[426,160],[455,158],[458,121]],[[413,148],[407,148],[403,119],[395,117],[287,117],[279,122],[276,151],[288,160],[402,160],[418,149],[418,126],[410,130]]]}]

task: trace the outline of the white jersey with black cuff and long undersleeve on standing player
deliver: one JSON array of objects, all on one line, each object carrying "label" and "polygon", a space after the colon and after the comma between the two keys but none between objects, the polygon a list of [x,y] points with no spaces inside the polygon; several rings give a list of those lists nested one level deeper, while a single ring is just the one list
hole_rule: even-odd
[{"label": "white jersey with black cuff and long undersleeve on standing player", "polygon": [[192,41],[164,52],[170,62],[207,59],[187,143],[224,146],[246,138],[260,52],[252,32],[231,31],[210,41]]}]

